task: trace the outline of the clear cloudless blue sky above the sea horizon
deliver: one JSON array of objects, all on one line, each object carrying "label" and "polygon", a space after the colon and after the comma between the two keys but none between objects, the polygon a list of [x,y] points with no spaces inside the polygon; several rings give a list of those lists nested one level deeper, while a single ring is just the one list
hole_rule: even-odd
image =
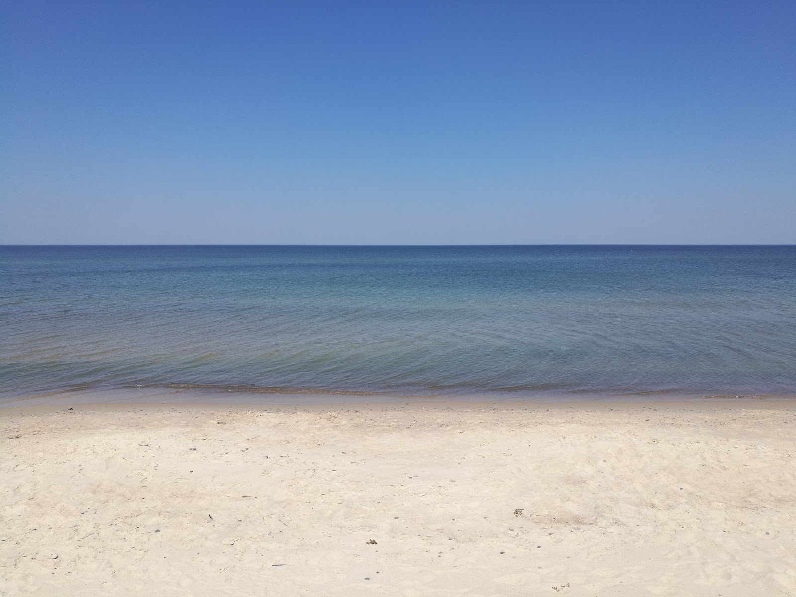
[{"label": "clear cloudless blue sky above the sea horizon", "polygon": [[0,244],[794,244],[796,2],[3,2]]}]

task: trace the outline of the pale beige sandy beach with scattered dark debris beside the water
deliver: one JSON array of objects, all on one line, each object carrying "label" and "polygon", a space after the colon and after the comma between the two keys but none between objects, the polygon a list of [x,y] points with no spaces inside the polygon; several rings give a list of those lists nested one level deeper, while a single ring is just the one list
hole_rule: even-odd
[{"label": "pale beige sandy beach with scattered dark debris beside the water", "polygon": [[2,595],[796,595],[796,402],[67,408]]}]

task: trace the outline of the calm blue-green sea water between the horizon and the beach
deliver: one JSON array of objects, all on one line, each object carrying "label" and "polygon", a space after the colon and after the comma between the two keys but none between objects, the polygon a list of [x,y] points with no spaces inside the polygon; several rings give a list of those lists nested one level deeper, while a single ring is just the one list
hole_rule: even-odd
[{"label": "calm blue-green sea water between the horizon and the beach", "polygon": [[796,394],[796,247],[2,247],[0,401]]}]

